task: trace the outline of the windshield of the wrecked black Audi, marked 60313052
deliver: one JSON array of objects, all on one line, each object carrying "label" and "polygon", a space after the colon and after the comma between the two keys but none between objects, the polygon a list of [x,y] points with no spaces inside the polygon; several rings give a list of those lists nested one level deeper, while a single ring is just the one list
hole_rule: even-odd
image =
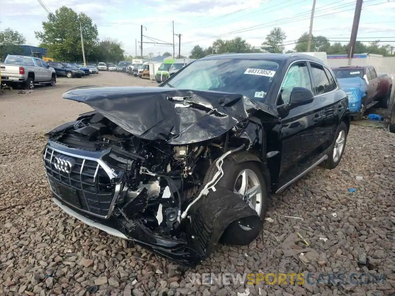
[{"label": "windshield of the wrecked black Audi, marked 60313052", "polygon": [[169,78],[163,86],[230,92],[262,101],[277,69],[278,64],[269,60],[200,60]]}]

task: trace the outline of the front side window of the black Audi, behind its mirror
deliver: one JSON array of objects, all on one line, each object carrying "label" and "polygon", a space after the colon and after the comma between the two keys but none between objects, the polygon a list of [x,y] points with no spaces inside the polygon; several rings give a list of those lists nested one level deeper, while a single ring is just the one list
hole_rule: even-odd
[{"label": "front side window of the black Audi, behind its mirror", "polygon": [[291,92],[294,87],[304,87],[312,90],[306,62],[298,62],[290,67],[282,83],[277,105],[290,102]]}]

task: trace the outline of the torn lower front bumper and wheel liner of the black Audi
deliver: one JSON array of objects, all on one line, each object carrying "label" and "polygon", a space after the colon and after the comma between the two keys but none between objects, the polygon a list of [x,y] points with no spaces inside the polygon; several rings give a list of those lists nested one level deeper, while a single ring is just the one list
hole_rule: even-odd
[{"label": "torn lower front bumper and wheel liner of the black Audi", "polygon": [[[223,236],[231,224],[248,224],[254,237],[262,228],[261,218],[247,203],[219,186],[215,192],[210,191],[191,208],[190,215],[184,220],[184,232],[177,238],[154,233],[139,219],[134,220],[134,227],[126,231],[117,219],[103,220],[81,214],[62,203],[55,195],[53,201],[64,212],[91,227],[134,241],[162,257],[188,267],[194,267],[206,259],[218,242],[226,244],[232,241],[236,233],[230,233],[229,237]],[[241,241],[240,244],[245,243]]]}]

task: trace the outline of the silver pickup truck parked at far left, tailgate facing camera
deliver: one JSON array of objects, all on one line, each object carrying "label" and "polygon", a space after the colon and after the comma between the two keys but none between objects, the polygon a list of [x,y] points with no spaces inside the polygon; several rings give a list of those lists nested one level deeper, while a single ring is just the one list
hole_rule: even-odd
[{"label": "silver pickup truck parked at far left, tailgate facing camera", "polygon": [[56,84],[55,69],[41,58],[9,54],[0,64],[0,70],[2,85],[23,86],[24,89],[32,90],[34,84]]}]

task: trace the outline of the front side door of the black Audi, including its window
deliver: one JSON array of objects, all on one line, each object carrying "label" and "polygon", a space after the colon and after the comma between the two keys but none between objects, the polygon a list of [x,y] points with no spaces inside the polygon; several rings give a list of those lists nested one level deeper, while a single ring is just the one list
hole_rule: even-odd
[{"label": "front side door of the black Audi, including its window", "polygon": [[[281,116],[281,164],[278,186],[292,182],[292,179],[311,162],[315,149],[316,135],[314,128],[321,124],[321,113],[314,104],[295,107],[282,112],[284,106],[290,105],[291,92],[294,87],[307,88],[313,92],[310,70],[306,61],[294,62],[285,74],[277,99]],[[314,119],[316,118],[316,119]]]}]

